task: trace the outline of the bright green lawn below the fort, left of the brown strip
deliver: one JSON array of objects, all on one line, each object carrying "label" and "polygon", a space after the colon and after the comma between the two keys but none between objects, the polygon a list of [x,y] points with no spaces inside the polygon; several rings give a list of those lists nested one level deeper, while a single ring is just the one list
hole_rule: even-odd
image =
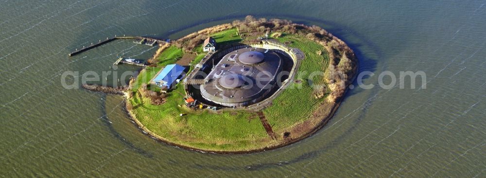
[{"label": "bright green lawn below the fort, left of the brown strip", "polygon": [[[137,94],[130,99],[134,106],[132,113],[147,129],[184,146],[198,145],[196,147],[211,150],[258,148],[259,144],[254,141],[268,137],[257,117],[250,120],[253,113],[192,111],[184,106],[184,96],[181,83],[162,105],[151,105],[148,98],[140,98]],[[181,117],[180,113],[187,115]]]}]

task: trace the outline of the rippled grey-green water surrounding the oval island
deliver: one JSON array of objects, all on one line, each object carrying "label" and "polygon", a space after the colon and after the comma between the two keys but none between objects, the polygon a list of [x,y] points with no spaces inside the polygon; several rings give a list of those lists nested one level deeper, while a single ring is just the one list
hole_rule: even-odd
[{"label": "rippled grey-green water surrounding the oval island", "polygon": [[[136,71],[110,66],[156,51],[130,40],[68,57],[74,49],[123,34],[176,39],[246,15],[325,28],[376,86],[349,90],[298,143],[219,155],[148,137],[120,96],[61,85],[65,71]],[[485,19],[481,1],[2,0],[0,177],[486,177]],[[381,72],[408,70],[424,71],[426,88],[378,86]]]}]

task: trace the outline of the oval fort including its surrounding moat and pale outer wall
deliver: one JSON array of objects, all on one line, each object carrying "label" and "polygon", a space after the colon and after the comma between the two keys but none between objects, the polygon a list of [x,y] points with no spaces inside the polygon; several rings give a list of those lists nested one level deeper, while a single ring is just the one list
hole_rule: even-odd
[{"label": "oval fort including its surrounding moat and pale outer wall", "polygon": [[195,65],[184,80],[186,92],[207,105],[261,110],[294,79],[304,58],[300,49],[273,40],[235,44]]}]

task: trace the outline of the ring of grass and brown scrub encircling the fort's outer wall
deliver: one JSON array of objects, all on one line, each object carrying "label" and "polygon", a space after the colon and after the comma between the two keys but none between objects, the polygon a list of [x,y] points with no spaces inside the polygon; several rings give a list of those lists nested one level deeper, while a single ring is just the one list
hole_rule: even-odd
[{"label": "ring of grass and brown scrub encircling the fort's outer wall", "polygon": [[[165,65],[186,63],[182,65],[190,66],[189,72],[193,70],[207,55],[202,43],[208,36],[219,48],[225,48],[235,43],[258,43],[265,35],[268,40],[300,49],[305,59],[300,62],[295,80],[264,109],[194,110],[186,106],[182,82],[166,93],[149,84]],[[127,110],[144,131],[161,141],[212,152],[271,149],[311,135],[330,119],[357,68],[352,50],[319,27],[252,16],[191,33],[161,48],[150,60],[152,65],[131,82],[126,94]],[[190,61],[184,60],[187,56],[191,56]],[[324,71],[325,75],[311,76],[314,71]],[[311,86],[315,84],[321,87]],[[264,128],[262,115],[273,135]]]}]

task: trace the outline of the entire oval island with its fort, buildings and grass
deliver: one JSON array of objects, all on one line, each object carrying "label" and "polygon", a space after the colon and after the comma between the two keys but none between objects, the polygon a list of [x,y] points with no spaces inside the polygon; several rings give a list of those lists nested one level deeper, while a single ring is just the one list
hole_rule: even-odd
[{"label": "entire oval island with its fort, buildings and grass", "polygon": [[322,128],[356,71],[352,49],[324,29],[247,16],[160,43],[124,95],[154,139],[247,153]]}]

